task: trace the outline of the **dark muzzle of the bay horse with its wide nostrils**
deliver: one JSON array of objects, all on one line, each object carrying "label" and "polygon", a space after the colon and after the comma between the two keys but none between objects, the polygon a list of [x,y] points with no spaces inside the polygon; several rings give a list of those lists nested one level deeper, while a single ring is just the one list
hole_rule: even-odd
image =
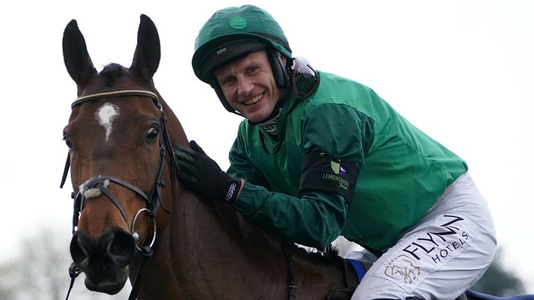
[{"label": "dark muzzle of the bay horse with its wide nostrils", "polygon": [[79,230],[70,242],[70,255],[86,274],[86,287],[107,294],[116,294],[124,287],[135,250],[131,234],[118,227],[97,239]]}]

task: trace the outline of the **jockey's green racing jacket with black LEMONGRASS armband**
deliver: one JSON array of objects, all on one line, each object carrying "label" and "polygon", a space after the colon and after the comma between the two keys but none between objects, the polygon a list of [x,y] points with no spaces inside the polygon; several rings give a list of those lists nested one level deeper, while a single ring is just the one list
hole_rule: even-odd
[{"label": "jockey's green racing jacket with black LEMONGRASS armband", "polygon": [[241,122],[227,172],[245,185],[232,205],[291,242],[323,249],[343,235],[385,251],[467,165],[370,88],[318,74],[312,96],[285,99],[279,140]]}]

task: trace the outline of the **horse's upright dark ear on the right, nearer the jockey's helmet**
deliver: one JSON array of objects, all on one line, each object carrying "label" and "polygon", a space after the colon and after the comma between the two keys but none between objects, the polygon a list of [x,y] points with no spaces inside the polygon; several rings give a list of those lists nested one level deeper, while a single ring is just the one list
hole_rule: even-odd
[{"label": "horse's upright dark ear on the right, nearer the jockey's helmet", "polygon": [[130,69],[147,83],[152,83],[152,76],[156,73],[161,58],[159,34],[152,19],[146,15],[141,15],[140,18],[137,47]]}]

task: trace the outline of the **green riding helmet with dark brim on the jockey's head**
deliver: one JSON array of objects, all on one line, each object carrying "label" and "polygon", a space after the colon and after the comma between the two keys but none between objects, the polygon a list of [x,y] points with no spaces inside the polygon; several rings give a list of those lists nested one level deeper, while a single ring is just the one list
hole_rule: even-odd
[{"label": "green riding helmet with dark brim on the jockey's head", "polygon": [[[214,69],[243,58],[248,53],[264,49],[270,53],[269,59],[277,85],[286,85],[286,69],[285,66],[280,66],[280,54],[290,62],[292,56],[289,42],[280,25],[268,12],[257,6],[224,8],[215,12],[198,33],[192,61],[193,71],[219,94],[218,84],[214,81]],[[223,101],[223,104],[227,103]]]}]

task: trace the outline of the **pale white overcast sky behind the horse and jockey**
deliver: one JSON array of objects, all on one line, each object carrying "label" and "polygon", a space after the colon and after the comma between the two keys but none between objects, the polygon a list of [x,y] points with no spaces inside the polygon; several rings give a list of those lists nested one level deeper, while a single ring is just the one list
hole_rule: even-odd
[{"label": "pale white overcast sky behind the horse and jockey", "polygon": [[[72,187],[59,189],[76,87],[61,38],[77,19],[98,70],[129,66],[139,15],[161,38],[156,88],[223,168],[241,119],[195,78],[197,32],[240,1],[10,1],[0,18],[0,257],[52,227],[70,239]],[[170,5],[172,4],[172,6]],[[179,3],[179,4],[178,4]],[[510,270],[534,293],[534,1],[250,1],[277,19],[295,56],[368,85],[467,160]],[[291,4],[291,6],[289,6]],[[68,242],[65,242],[68,247]],[[66,269],[66,267],[65,267]]]}]

